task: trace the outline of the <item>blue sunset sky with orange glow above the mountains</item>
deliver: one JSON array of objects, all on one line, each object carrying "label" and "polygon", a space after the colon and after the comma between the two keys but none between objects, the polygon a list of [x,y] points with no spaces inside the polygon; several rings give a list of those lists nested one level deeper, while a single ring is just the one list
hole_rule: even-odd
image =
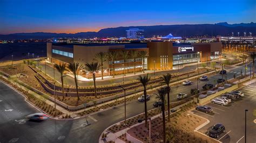
[{"label": "blue sunset sky with orange glow above the mountains", "polygon": [[255,0],[0,0],[0,34],[76,33],[136,25],[256,22]]}]

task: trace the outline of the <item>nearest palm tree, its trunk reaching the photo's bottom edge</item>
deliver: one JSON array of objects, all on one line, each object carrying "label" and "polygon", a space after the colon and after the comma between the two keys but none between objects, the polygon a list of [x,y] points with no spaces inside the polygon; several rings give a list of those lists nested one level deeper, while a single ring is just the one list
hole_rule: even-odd
[{"label": "nearest palm tree, its trunk reaching the photo's bottom edge", "polygon": [[160,99],[160,101],[162,102],[161,104],[161,111],[162,111],[162,118],[163,118],[163,139],[164,139],[164,142],[166,140],[165,138],[165,94],[167,92],[167,88],[166,87],[161,87],[159,89],[157,89],[157,93],[158,93],[158,98]]}]

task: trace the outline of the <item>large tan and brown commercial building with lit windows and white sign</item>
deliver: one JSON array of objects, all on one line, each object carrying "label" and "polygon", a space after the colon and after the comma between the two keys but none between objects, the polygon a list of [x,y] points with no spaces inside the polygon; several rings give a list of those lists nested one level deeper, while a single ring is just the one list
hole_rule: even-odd
[{"label": "large tan and brown commercial building with lit windows and white sign", "polygon": [[[118,56],[113,61],[109,58],[104,63],[104,75],[131,73],[143,70],[170,70],[173,65],[193,62],[206,62],[219,59],[221,55],[221,43],[172,43],[172,42],[148,42],[145,44],[79,44],[79,45],[53,45],[47,43],[47,57],[49,62],[80,64],[95,62],[95,55],[99,52],[117,52]],[[129,56],[124,63],[121,51],[129,51]],[[138,53],[136,60],[131,55],[133,51]],[[140,51],[146,51],[148,56],[144,59]],[[84,77],[89,77],[83,73]],[[101,74],[101,73],[100,73]],[[98,73],[98,76],[100,76]]]}]

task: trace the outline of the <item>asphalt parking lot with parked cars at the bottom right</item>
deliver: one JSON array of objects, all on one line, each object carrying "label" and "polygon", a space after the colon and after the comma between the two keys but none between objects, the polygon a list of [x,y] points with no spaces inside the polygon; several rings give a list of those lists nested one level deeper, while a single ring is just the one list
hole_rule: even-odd
[{"label": "asphalt parking lot with parked cars at the bottom right", "polygon": [[256,124],[253,122],[256,117],[253,111],[256,110],[256,82],[238,91],[244,92],[245,96],[232,101],[226,106],[207,103],[207,106],[213,108],[212,113],[204,113],[192,110],[194,114],[210,120],[210,123],[200,128],[199,132],[208,134],[208,131],[214,124],[223,124],[226,128],[225,133],[221,133],[217,140],[222,142],[245,142],[245,109],[247,112],[247,133],[246,142],[256,142]]}]

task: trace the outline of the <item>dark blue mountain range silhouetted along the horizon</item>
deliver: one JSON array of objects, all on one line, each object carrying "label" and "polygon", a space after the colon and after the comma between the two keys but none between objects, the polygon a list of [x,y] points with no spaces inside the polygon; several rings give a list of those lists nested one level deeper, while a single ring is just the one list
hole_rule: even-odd
[{"label": "dark blue mountain range silhouetted along the horizon", "polygon": [[0,35],[1,40],[10,39],[45,39],[45,38],[92,38],[92,37],[125,37],[125,30],[131,28],[143,29],[145,37],[166,36],[172,33],[173,36],[195,37],[195,36],[234,36],[240,32],[252,32],[256,34],[256,23],[228,24],[227,22],[217,24],[182,24],[182,25],[153,25],[153,26],[121,26],[117,28],[105,28],[98,32],[78,32],[78,33],[12,33],[9,35]]}]

